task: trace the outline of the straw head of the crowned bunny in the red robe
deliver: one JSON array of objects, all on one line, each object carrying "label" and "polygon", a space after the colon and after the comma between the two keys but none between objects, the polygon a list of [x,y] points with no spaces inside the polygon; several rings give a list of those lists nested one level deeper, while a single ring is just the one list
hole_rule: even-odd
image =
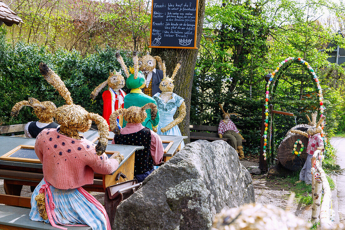
[{"label": "straw head of the crowned bunny in the red robe", "polygon": [[94,100],[96,96],[99,94],[99,92],[104,88],[106,85],[109,86],[109,88],[112,88],[115,92],[118,92],[120,89],[122,89],[125,86],[125,78],[122,76],[121,69],[119,71],[116,71],[114,69],[113,72],[109,70],[109,77],[108,79],[101,83],[99,86],[97,86],[90,95],[90,98]]}]

